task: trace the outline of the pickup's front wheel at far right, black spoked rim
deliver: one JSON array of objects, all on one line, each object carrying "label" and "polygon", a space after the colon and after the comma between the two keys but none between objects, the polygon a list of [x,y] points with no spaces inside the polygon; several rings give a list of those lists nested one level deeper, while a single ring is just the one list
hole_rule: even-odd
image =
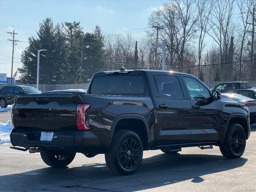
[{"label": "pickup's front wheel at far right, black spoked rim", "polygon": [[228,127],[224,143],[220,145],[220,152],[226,158],[239,158],[244,154],[246,135],[240,124]]}]

